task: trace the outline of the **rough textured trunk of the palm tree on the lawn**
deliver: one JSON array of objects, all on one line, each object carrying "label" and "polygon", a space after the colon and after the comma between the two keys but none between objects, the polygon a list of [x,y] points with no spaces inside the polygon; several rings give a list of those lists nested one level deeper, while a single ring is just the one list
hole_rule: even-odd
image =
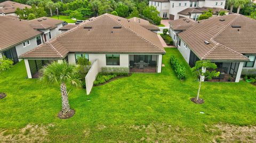
[{"label": "rough textured trunk of the palm tree on the lawn", "polygon": [[68,93],[67,93],[67,86],[64,82],[60,85],[61,91],[61,100],[62,100],[62,112],[66,114],[70,111],[69,103],[68,103]]}]

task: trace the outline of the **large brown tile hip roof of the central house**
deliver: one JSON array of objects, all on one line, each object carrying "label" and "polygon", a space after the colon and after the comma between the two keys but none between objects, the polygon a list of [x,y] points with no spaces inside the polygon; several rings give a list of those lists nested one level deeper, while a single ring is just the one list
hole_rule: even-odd
[{"label": "large brown tile hip roof of the central house", "polygon": [[63,58],[69,52],[165,54],[156,33],[136,22],[103,14],[84,21],[20,58]]}]

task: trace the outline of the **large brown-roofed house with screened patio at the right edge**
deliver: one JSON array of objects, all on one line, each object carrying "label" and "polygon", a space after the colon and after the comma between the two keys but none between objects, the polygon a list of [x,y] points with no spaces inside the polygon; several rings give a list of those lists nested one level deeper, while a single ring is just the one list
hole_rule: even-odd
[{"label": "large brown-roofed house with screened patio at the right edge", "polygon": [[256,69],[255,35],[256,20],[229,14],[195,22],[179,32],[177,47],[191,67],[198,60],[217,64],[221,74],[213,81],[239,82],[242,70]]}]

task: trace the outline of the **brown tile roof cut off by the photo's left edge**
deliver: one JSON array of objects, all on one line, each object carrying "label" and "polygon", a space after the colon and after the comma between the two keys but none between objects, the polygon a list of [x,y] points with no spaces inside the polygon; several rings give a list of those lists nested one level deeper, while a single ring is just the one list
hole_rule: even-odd
[{"label": "brown tile roof cut off by the photo's left edge", "polygon": [[31,28],[28,21],[20,21],[9,16],[0,16],[0,25],[0,51],[42,33]]}]

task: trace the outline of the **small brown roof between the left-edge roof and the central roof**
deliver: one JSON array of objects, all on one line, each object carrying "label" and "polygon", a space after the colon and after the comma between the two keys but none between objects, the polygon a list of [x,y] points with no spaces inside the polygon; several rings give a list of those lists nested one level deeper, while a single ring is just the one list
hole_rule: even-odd
[{"label": "small brown roof between the left-edge roof and the central roof", "polygon": [[64,21],[46,17],[33,19],[29,21],[31,27],[33,27],[34,29],[54,29],[57,27],[58,24],[62,22]]}]

